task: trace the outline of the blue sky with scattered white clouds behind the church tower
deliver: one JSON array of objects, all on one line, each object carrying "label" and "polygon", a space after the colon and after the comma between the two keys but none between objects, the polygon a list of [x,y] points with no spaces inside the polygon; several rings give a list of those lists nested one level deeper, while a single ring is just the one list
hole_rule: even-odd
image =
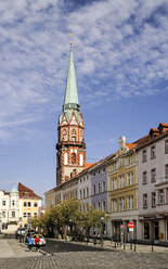
[{"label": "blue sky with scattered white clouds behind the church tower", "polygon": [[0,1],[0,189],[55,187],[69,33],[87,162],[168,123],[167,0]]}]

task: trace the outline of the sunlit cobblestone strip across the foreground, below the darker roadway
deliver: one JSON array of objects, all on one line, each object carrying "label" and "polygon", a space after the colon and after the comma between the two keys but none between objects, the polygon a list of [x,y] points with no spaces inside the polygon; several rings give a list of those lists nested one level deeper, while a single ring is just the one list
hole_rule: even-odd
[{"label": "sunlit cobblestone strip across the foreground, below the darker roadway", "polygon": [[167,254],[68,252],[26,258],[1,258],[1,269],[167,269]]}]

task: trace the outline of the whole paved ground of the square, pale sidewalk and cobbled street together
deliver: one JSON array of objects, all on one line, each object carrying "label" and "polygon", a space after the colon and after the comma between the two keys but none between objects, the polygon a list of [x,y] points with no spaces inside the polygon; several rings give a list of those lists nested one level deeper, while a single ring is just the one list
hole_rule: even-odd
[{"label": "whole paved ground of the square, pale sidewalk and cobbled street together", "polygon": [[[168,253],[104,248],[91,243],[47,240],[40,253],[28,253],[16,240],[0,240],[0,269],[168,269]],[[154,246],[155,247],[155,246]]]}]

